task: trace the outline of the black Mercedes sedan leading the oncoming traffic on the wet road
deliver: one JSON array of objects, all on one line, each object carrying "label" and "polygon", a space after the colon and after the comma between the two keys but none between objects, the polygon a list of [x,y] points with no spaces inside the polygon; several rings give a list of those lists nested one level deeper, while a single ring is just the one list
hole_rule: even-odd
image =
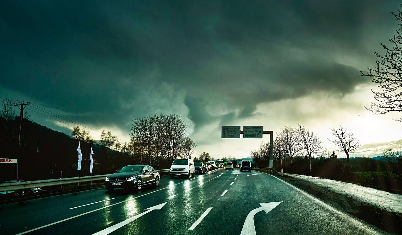
[{"label": "black Mercedes sedan leading the oncoming traffic on the wet road", "polygon": [[105,187],[108,191],[115,188],[135,188],[140,190],[146,184],[159,185],[160,174],[152,166],[129,165],[107,176]]}]

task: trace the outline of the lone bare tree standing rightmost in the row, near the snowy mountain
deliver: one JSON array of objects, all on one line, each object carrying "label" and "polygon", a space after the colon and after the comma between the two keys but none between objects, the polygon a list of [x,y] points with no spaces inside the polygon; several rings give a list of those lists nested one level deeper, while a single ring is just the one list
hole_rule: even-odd
[{"label": "lone bare tree standing rightmost in the row, near the snowy mountain", "polygon": [[331,128],[334,138],[330,141],[337,148],[336,151],[344,152],[346,154],[348,176],[349,176],[349,153],[353,153],[358,147],[360,147],[359,139],[357,139],[353,133],[348,133],[348,128],[344,129],[343,126],[339,128]]}]

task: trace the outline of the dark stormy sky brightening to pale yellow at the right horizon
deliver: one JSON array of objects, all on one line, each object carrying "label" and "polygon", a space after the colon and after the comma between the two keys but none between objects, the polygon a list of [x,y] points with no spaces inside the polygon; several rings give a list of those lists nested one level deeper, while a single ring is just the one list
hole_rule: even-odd
[{"label": "dark stormy sky brightening to pale yellow at the right horizon", "polygon": [[[383,146],[402,139],[392,121],[401,114],[363,107],[375,84],[359,71],[385,53],[380,43],[399,27],[390,12],[400,9],[358,0],[2,1],[0,97],[121,141],[137,116],[176,113],[195,156],[248,157],[269,141],[221,139],[221,125],[263,125],[275,138],[301,124],[330,150],[330,128],[343,125],[363,146]],[[71,134],[31,107],[34,121]],[[366,150],[355,155],[377,154]]]}]

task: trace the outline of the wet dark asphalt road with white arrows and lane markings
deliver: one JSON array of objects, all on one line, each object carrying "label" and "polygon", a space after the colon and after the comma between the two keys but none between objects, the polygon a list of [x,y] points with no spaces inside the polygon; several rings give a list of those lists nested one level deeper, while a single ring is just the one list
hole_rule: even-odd
[{"label": "wet dark asphalt road with white arrows and lane markings", "polygon": [[384,233],[280,178],[238,169],[162,177],[139,192],[100,188],[4,204],[0,212],[2,235]]}]

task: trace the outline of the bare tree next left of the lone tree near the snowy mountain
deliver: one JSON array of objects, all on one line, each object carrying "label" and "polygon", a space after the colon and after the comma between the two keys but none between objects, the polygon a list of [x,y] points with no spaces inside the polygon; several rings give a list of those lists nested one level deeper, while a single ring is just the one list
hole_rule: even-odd
[{"label": "bare tree next left of the lone tree near the snowy mountain", "polygon": [[313,131],[302,127],[300,124],[297,128],[297,138],[301,149],[304,149],[304,151],[307,153],[311,175],[311,155],[318,153],[322,149],[322,142],[318,138],[317,134],[314,135]]}]

